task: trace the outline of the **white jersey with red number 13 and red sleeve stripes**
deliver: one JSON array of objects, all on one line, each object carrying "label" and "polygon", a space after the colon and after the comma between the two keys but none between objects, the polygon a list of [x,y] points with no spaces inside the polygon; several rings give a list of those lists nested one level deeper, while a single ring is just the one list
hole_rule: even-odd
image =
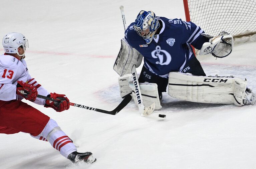
[{"label": "white jersey with red number 13 and red sleeve stripes", "polygon": [[[24,59],[19,60],[11,55],[0,56],[0,100],[21,100],[22,97],[16,95],[17,81],[27,82],[37,88],[38,94],[47,96],[49,92],[45,90],[28,73],[27,64]],[[45,100],[36,98],[36,104],[44,105]]]}]

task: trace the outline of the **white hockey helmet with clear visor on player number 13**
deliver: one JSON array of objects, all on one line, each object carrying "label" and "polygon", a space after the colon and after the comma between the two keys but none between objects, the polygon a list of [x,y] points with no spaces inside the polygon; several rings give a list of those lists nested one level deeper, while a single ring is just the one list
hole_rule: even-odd
[{"label": "white hockey helmet with clear visor on player number 13", "polygon": [[[28,47],[28,40],[21,33],[11,32],[7,33],[3,37],[2,45],[4,47],[5,53],[16,53],[19,56],[24,56],[26,47]],[[24,49],[24,53],[22,55],[18,53],[18,47],[20,46],[22,46]]]}]

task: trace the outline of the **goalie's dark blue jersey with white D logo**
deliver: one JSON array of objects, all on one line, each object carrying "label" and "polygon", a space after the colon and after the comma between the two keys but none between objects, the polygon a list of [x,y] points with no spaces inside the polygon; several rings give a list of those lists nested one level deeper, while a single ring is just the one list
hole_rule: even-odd
[{"label": "goalie's dark blue jersey with white D logo", "polygon": [[157,19],[163,27],[150,44],[134,30],[134,23],[125,30],[125,39],[144,56],[144,66],[148,70],[168,78],[169,72],[181,72],[189,59],[195,57],[191,45],[201,49],[209,39],[200,35],[204,31],[192,22],[165,17]]}]

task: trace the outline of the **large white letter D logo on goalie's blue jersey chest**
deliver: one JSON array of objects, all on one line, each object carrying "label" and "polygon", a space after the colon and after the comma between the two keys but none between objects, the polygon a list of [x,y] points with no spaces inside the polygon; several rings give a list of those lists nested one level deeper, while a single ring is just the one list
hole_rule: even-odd
[{"label": "large white letter D logo on goalie's blue jersey chest", "polygon": [[[164,55],[161,55],[161,53],[163,53]],[[166,50],[161,49],[160,46],[157,46],[156,50],[153,50],[151,52],[151,56],[155,59],[159,58],[159,62],[157,61],[156,64],[160,64],[160,65],[169,65],[169,63],[172,60],[170,53],[168,53]],[[164,62],[164,56],[166,57],[165,62]]]}]

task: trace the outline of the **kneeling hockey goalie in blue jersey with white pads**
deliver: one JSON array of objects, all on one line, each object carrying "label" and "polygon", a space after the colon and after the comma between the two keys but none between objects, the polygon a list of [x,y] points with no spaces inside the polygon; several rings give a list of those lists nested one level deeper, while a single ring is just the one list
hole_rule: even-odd
[{"label": "kneeling hockey goalie in blue jersey with white pads", "polygon": [[233,36],[221,32],[206,34],[192,22],[156,17],[152,11],[140,11],[135,22],[125,30],[121,49],[113,69],[120,75],[121,97],[136,92],[132,81],[132,66],[144,65],[139,87],[145,106],[155,103],[161,109],[162,92],[174,98],[200,103],[254,104],[256,94],[247,88],[246,79],[233,76],[206,76],[193,53],[228,56],[233,50]]}]

